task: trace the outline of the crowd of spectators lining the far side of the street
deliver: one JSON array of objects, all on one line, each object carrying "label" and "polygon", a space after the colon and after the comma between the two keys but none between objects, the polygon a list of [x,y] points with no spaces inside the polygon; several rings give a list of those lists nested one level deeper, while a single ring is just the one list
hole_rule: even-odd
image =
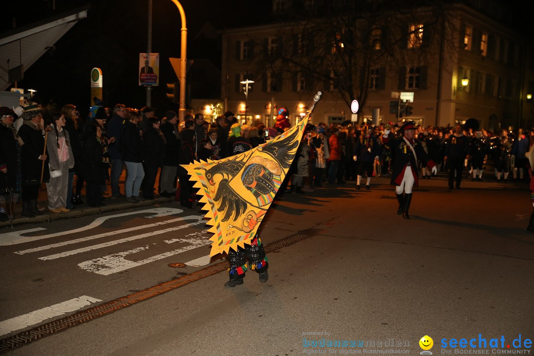
[{"label": "crowd of spectators lining the far side of the street", "polygon": [[[85,203],[91,207],[105,205],[109,199],[138,203],[159,195],[176,197],[184,208],[191,208],[196,196],[180,164],[229,157],[244,145],[257,147],[291,126],[283,108],[268,128],[261,123],[241,124],[231,112],[211,123],[200,113],[179,122],[172,111],[159,118],[150,107],[137,110],[116,104],[107,108],[99,100],[86,117],[72,104],[49,113],[34,100],[15,110],[0,108],[0,118],[0,193],[20,193],[22,215],[30,218],[45,209],[37,205],[42,183],[46,183],[47,208],[53,213]],[[314,188],[347,181],[356,181],[357,189],[365,182],[370,189],[372,177],[389,174],[394,157],[382,141],[384,124],[345,123],[307,125],[280,195],[304,193],[305,185]],[[395,131],[396,125],[392,126]],[[506,183],[510,172],[514,179],[532,176],[525,153],[534,143],[534,131],[525,135],[521,129],[491,132],[461,125],[419,125],[415,135],[438,169],[450,171],[450,189],[454,182],[460,188],[464,170],[472,180],[482,180],[488,161],[493,162],[491,176],[499,182]],[[420,169],[422,178],[430,179],[430,172]],[[108,185],[111,196],[106,195]]]}]

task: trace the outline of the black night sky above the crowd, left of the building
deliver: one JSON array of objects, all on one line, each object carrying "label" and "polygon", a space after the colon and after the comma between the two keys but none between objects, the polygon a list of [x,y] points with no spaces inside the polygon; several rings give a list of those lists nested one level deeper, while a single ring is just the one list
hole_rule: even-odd
[{"label": "black night sky above the crowd, left of the building", "polygon": [[[271,20],[270,0],[182,0],[187,20],[187,57],[202,58],[211,53],[220,66],[217,44],[194,41],[195,34],[209,21],[218,29],[254,25]],[[504,2],[503,2],[504,3]],[[532,36],[532,26],[525,21],[530,12],[527,2],[507,0],[515,10],[515,25],[525,36]],[[53,56],[45,54],[26,70],[21,88],[36,89],[43,104],[53,101],[60,108],[72,102],[89,106],[90,70],[100,67],[104,75],[106,106],[122,102],[141,107],[145,89],[138,85],[138,53],[146,52],[147,0],[52,0],[12,1],[0,13],[0,30],[11,28],[13,17],[17,26],[45,19],[61,12],[90,4],[88,17],[76,23],[56,43]],[[152,106],[158,113],[177,109],[166,97],[165,83],[177,80],[168,57],[179,57],[180,15],[170,0],[153,0],[152,52],[160,53],[160,86],[154,88]],[[218,57],[217,57],[218,56]],[[45,72],[60,73],[59,80],[50,81]]]}]

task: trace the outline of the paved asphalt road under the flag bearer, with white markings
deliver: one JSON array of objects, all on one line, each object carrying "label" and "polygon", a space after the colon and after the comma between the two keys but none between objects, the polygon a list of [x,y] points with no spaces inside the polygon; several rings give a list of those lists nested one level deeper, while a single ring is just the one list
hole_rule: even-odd
[{"label": "paved asphalt road under the flag bearer, with white markings", "polygon": [[[532,339],[534,235],[524,232],[531,212],[527,185],[466,181],[451,192],[443,179],[421,181],[406,221],[395,214],[387,183],[379,178],[371,191],[349,183],[277,201],[263,227],[264,243],[314,233],[269,255],[267,283],[248,273],[245,284],[225,289],[226,276],[218,273],[10,353],[289,355],[308,352],[306,342],[325,337],[375,341],[360,351],[380,351],[376,342],[394,338],[404,343],[395,349],[415,354],[419,338],[430,335],[436,354],[443,351],[442,338]],[[169,267],[209,254],[203,220],[193,218],[199,211],[177,208],[138,208],[161,210],[60,236],[121,212],[15,228],[44,227],[25,236],[54,236],[0,247],[0,319],[81,296],[92,299],[71,304],[98,305],[201,269],[201,263]],[[169,215],[154,217],[158,213]],[[170,231],[156,233],[164,229]],[[65,244],[98,234],[105,236]],[[51,244],[57,245],[44,249]],[[94,248],[100,244],[106,245]],[[65,256],[49,257],[60,254]]]}]

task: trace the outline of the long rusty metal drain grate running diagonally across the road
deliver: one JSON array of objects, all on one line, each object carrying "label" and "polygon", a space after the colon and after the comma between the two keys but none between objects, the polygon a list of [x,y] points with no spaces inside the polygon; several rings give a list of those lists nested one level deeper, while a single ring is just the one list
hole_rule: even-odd
[{"label": "long rusty metal drain grate running diagonally across the road", "polygon": [[[265,252],[269,253],[276,251],[282,247],[286,247],[304,239],[308,239],[311,236],[316,235],[318,232],[319,230],[316,229],[305,230],[294,235],[287,236],[287,238],[271,242],[268,245],[265,245]],[[144,300],[158,296],[165,292],[183,287],[191,282],[226,271],[229,267],[230,264],[227,261],[219,262],[215,265],[202,268],[202,270],[160,283],[144,290],[140,290],[128,296],[112,300],[111,302],[88,308],[81,312],[68,315],[65,318],[51,321],[30,330],[21,331],[18,334],[0,340],[0,353],[10,351],[18,346],[29,344],[30,342],[36,341],[45,336],[59,333],[59,331],[63,331],[67,328],[102,317],[103,315],[113,313],[130,305],[143,302]]]}]

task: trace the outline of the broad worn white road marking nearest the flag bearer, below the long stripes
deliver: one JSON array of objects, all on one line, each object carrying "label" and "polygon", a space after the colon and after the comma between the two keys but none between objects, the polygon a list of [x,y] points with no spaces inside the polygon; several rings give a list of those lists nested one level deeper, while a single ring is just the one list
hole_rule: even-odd
[{"label": "broad worn white road marking nearest the flag bearer, below the long stripes", "polygon": [[124,270],[128,270],[129,268],[151,263],[162,258],[178,255],[178,254],[181,254],[182,252],[189,251],[197,247],[201,247],[201,246],[206,246],[211,243],[211,241],[206,238],[205,239],[195,239],[195,238],[175,239],[175,240],[176,240],[175,242],[186,242],[190,244],[188,246],[184,246],[176,250],[164,252],[161,255],[152,256],[152,257],[149,257],[149,258],[137,261],[137,262],[124,259],[124,256],[135,254],[136,252],[146,250],[148,249],[148,246],[138,247],[132,250],[120,252],[119,254],[113,254],[113,255],[108,255],[108,256],[101,257],[101,258],[95,258],[90,261],[82,262],[78,264],[78,266],[80,266],[82,270],[95,272],[95,273],[103,274],[103,275],[109,275],[109,274],[121,272]]}]

